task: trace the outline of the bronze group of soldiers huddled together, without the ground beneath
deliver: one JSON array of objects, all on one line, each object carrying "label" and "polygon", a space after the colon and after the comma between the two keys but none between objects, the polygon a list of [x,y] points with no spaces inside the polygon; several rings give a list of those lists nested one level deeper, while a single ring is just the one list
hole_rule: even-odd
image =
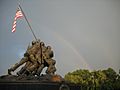
[{"label": "bronze group of soldiers huddled together, without the ground beneath", "polygon": [[32,41],[32,46],[28,46],[24,57],[19,63],[8,69],[8,74],[15,71],[19,66],[25,65],[17,72],[17,75],[40,75],[43,68],[47,67],[46,74],[53,75],[56,71],[55,63],[53,60],[53,51],[50,46],[45,46],[44,42],[40,40]]}]

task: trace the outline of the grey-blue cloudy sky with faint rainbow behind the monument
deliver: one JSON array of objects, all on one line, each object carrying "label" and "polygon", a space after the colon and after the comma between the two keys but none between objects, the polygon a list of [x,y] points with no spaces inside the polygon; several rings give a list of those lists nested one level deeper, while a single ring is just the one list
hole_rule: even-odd
[{"label": "grey-blue cloudy sky with faint rainbow behind the monument", "polygon": [[[19,0],[37,38],[50,45],[56,74],[77,69],[120,69],[120,0]],[[0,0],[0,75],[19,62],[34,37],[12,23],[18,0]],[[17,71],[17,70],[16,70]],[[44,73],[44,72],[43,72]]]}]

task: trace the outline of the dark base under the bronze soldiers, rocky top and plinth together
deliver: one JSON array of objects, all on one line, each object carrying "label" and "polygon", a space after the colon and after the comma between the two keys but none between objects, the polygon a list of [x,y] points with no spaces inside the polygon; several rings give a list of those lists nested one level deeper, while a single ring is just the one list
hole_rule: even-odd
[{"label": "dark base under the bronze soldiers, rocky top and plinth together", "polygon": [[17,80],[17,76],[1,76],[0,90],[80,90],[78,85],[65,81],[51,81],[50,77],[24,77]]}]

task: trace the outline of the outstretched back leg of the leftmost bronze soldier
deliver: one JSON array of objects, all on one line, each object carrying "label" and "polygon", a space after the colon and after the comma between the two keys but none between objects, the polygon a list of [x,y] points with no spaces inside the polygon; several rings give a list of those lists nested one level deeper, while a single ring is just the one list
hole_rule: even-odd
[{"label": "outstretched back leg of the leftmost bronze soldier", "polygon": [[27,60],[28,60],[27,57],[22,58],[19,63],[16,63],[13,67],[8,69],[8,74],[11,74],[11,71],[15,71],[19,66],[24,64]]}]

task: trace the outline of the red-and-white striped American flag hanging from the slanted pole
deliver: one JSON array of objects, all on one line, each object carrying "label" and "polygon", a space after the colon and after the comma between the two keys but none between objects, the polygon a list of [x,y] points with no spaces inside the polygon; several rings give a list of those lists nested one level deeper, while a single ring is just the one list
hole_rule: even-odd
[{"label": "red-and-white striped American flag hanging from the slanted pole", "polygon": [[16,31],[17,19],[18,19],[18,18],[21,18],[21,17],[23,17],[23,14],[22,14],[21,10],[18,9],[18,10],[16,11],[16,15],[15,15],[15,18],[14,18],[14,22],[13,22],[13,26],[12,26],[12,32],[15,32],[15,31]]}]

